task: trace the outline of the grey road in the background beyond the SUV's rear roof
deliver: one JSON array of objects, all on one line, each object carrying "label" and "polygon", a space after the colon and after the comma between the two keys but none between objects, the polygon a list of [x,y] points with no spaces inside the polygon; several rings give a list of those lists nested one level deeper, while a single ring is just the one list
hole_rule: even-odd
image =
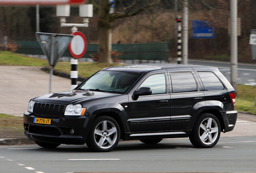
[{"label": "grey road in the background beyond the SUV's rear roof", "polygon": [[[230,71],[230,63],[228,62],[188,60],[188,64],[218,67],[220,72],[230,82],[231,71]],[[238,84],[256,85],[256,65],[238,64],[237,72],[238,72],[238,77],[237,77]]]}]

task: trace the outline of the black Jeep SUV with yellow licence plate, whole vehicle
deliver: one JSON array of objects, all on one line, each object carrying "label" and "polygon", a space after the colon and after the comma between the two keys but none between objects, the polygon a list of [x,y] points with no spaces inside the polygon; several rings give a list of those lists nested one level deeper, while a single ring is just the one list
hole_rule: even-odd
[{"label": "black Jeep SUV with yellow licence plate, whole vehicle", "polygon": [[120,139],[156,144],[189,137],[216,145],[237,119],[235,91],[217,68],[134,64],[104,68],[71,91],[35,97],[24,113],[25,135],[46,148],[78,144],[113,150]]}]

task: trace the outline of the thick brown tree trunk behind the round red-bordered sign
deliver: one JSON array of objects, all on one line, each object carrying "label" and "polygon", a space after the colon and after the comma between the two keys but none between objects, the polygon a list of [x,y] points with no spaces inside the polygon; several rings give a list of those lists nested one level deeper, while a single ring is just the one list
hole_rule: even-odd
[{"label": "thick brown tree trunk behind the round red-bordered sign", "polygon": [[99,62],[112,63],[109,45],[109,32],[111,30],[111,22],[109,20],[109,0],[99,1]]}]

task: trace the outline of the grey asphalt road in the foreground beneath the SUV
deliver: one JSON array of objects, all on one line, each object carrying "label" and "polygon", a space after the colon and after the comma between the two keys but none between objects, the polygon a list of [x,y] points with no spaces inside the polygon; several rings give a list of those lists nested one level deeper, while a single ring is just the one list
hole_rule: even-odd
[{"label": "grey asphalt road in the foreground beneath the SUV", "polygon": [[188,139],[157,145],[123,141],[109,153],[87,147],[35,145],[0,147],[0,172],[255,172],[256,136],[221,137],[211,149],[196,149]]}]

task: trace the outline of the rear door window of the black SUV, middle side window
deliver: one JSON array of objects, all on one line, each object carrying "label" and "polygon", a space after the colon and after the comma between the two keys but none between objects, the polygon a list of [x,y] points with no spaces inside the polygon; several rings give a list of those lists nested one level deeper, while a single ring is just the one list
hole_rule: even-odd
[{"label": "rear door window of the black SUV, middle side window", "polygon": [[171,73],[172,92],[197,91],[197,84],[191,72]]}]

